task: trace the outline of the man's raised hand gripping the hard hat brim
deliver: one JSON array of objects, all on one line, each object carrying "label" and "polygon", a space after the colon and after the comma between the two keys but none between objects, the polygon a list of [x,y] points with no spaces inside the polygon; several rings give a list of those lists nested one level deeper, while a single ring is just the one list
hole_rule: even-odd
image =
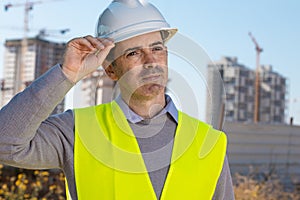
[{"label": "man's raised hand gripping the hard hat brim", "polygon": [[76,83],[102,65],[115,46],[112,39],[85,36],[68,42],[62,70],[67,78]]}]

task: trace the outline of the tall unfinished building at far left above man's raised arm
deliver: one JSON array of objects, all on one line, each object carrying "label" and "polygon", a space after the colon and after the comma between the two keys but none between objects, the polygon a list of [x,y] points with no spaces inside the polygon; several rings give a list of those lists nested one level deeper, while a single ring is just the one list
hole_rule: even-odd
[{"label": "tall unfinished building at far left above man's raised arm", "polygon": [[[6,40],[0,106],[8,103],[15,94],[46,72],[49,67],[60,63],[64,49],[65,43],[54,43],[38,37],[27,39],[27,48],[22,47],[21,39]],[[23,61],[22,52],[25,53]],[[54,113],[63,110],[64,102],[56,107]]]}]

